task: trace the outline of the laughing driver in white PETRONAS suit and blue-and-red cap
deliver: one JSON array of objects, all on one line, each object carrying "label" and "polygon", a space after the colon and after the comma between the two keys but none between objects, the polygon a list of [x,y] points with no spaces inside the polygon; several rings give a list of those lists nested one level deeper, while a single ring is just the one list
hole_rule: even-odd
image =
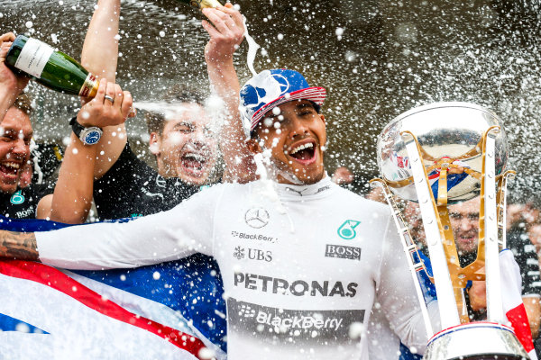
[{"label": "laughing driver in white PETRONAS suit and blue-and-red cap", "polygon": [[126,223],[3,231],[0,256],[72,269],[213,256],[224,278],[232,360],[368,359],[373,307],[404,344],[422,351],[426,329],[390,211],[325,173],[325,96],[296,71],[263,71],[241,90],[248,145],[266,164],[260,180],[217,184]]}]

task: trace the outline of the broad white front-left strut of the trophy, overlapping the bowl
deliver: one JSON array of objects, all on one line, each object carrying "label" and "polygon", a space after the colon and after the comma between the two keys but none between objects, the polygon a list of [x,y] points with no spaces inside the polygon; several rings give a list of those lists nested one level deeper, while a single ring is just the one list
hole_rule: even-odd
[{"label": "broad white front-left strut of the trophy, overlapping the bowl", "polygon": [[430,189],[425,166],[420,156],[421,150],[417,138],[409,131],[403,131],[401,132],[401,135],[408,151],[418,203],[421,209],[423,226],[425,227],[426,245],[428,246],[428,251],[430,253],[432,274],[435,278],[440,319],[443,328],[447,329],[459,325],[461,321],[458,315],[453,283],[447,267],[447,258],[445,257],[443,245],[445,236],[442,231],[440,231],[440,229],[443,228],[441,226],[439,214],[436,212],[436,202]]}]

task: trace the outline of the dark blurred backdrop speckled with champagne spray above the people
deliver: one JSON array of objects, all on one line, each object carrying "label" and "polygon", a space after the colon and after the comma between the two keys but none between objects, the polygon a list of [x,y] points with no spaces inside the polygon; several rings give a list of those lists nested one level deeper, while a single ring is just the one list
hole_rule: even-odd
[{"label": "dark blurred backdrop speckled with champagne spray above the people", "polygon": [[[79,58],[94,0],[0,0],[0,31],[30,33]],[[289,67],[327,89],[327,169],[374,173],[375,142],[400,112],[436,101],[497,112],[509,138],[515,187],[541,196],[540,9],[529,1],[240,0],[249,31],[266,50],[256,71]],[[124,0],[117,81],[138,101],[176,82],[207,86],[203,15],[175,0]],[[29,22],[32,22],[29,23]],[[337,31],[338,29],[338,31]],[[343,30],[341,37],[337,35]],[[165,36],[160,36],[160,31]],[[53,43],[51,34],[58,42]],[[141,35],[138,37],[138,35]],[[281,39],[281,40],[280,40]],[[235,58],[250,77],[247,45]],[[38,141],[61,141],[78,99],[32,85]],[[142,115],[128,124],[146,143]],[[140,147],[144,150],[144,147]],[[369,176],[370,177],[370,176]]]}]

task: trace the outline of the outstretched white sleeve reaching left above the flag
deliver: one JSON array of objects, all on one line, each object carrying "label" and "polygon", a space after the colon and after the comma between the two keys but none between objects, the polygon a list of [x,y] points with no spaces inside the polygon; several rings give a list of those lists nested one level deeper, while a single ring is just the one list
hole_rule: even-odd
[{"label": "outstretched white sleeve reaching left above the flag", "polygon": [[216,185],[170,211],[136,220],[78,225],[36,232],[40,260],[50,266],[96,270],[177,260],[199,252],[212,255]]}]

